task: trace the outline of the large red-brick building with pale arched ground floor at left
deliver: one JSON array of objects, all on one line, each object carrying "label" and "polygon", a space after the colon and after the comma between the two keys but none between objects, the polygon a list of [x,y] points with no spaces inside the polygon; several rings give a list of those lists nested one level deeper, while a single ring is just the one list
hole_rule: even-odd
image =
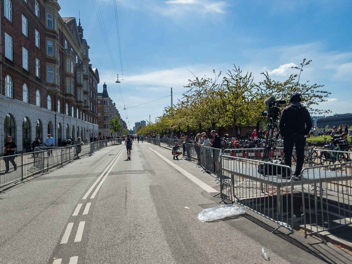
[{"label": "large red-brick building with pale arched ground floor at left", "polygon": [[56,146],[98,135],[99,73],[81,23],[55,0],[1,3],[1,147],[9,135],[19,153],[48,133]]}]

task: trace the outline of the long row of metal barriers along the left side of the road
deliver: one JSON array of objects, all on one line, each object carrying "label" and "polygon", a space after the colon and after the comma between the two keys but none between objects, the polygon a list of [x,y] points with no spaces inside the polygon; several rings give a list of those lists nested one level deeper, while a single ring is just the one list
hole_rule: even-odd
[{"label": "long row of metal barriers along the left side of the road", "polygon": [[[37,173],[62,166],[75,159],[84,157],[109,145],[121,144],[122,139],[102,140],[84,145],[66,147],[36,147],[33,152],[0,157],[0,191],[13,183],[24,181]],[[77,153],[77,148],[79,152]],[[28,180],[28,179],[27,179]],[[29,180],[28,180],[29,181]]]}]

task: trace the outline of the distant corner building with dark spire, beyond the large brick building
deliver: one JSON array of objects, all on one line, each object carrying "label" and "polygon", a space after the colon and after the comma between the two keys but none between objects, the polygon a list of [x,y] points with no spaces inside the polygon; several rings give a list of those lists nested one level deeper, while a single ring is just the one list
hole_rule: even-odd
[{"label": "distant corner building with dark spire, beyond the large brick building", "polygon": [[[110,128],[110,121],[118,117],[121,123],[121,133],[113,133]],[[102,93],[98,93],[98,136],[120,136],[127,129],[126,122],[122,120],[119,111],[116,108],[116,104],[109,97],[107,86],[103,84]]]}]

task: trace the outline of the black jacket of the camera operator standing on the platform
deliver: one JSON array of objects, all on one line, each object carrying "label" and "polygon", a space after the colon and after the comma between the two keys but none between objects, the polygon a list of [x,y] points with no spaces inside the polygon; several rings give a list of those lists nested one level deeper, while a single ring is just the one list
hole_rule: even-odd
[{"label": "black jacket of the camera operator standing on the platform", "polygon": [[289,105],[282,110],[279,122],[281,137],[290,134],[308,135],[311,128],[312,120],[303,106]]}]

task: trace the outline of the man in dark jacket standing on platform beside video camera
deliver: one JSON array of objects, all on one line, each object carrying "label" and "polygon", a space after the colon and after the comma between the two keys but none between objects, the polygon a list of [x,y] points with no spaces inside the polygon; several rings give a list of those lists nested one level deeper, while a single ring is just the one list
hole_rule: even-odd
[{"label": "man in dark jacket standing on platform beside video camera", "polygon": [[[291,105],[285,107],[281,112],[279,129],[280,136],[284,140],[284,161],[285,165],[291,167],[291,155],[293,146],[296,146],[296,171],[293,172],[295,176],[301,174],[304,163],[304,145],[306,144],[306,135],[309,134],[312,127],[312,120],[309,112],[301,105],[301,95],[294,93],[290,99]],[[289,172],[288,172],[289,174]],[[290,178],[291,175],[282,177]]]}]

